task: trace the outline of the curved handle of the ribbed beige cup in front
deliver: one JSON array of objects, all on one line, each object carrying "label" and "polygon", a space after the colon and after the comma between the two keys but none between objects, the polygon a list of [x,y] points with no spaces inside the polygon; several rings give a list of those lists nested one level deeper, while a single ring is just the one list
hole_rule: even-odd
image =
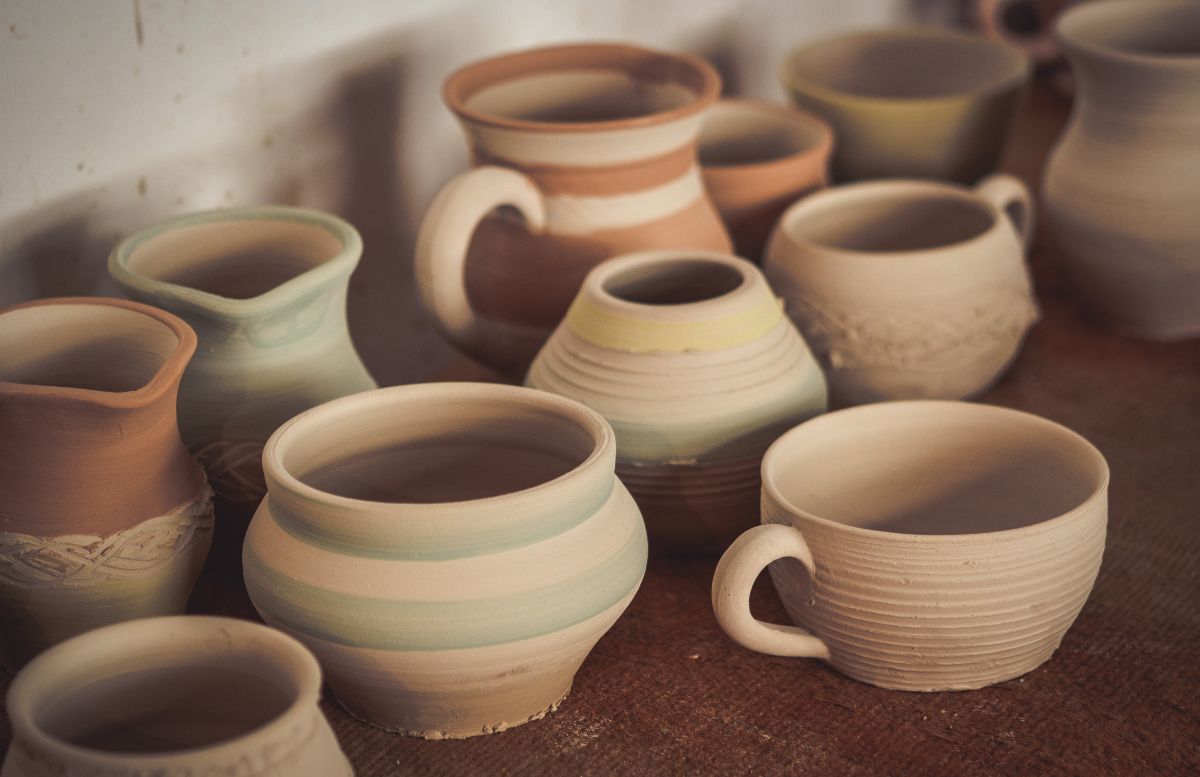
[{"label": "curved handle of the ribbed beige cup in front", "polygon": [[713,613],[733,642],[769,656],[829,659],[829,648],[811,632],[779,626],[750,614],[750,588],[767,565],[778,559],[797,559],[816,574],[812,554],[799,530],[784,524],[749,529],[725,552],[713,574]]}]

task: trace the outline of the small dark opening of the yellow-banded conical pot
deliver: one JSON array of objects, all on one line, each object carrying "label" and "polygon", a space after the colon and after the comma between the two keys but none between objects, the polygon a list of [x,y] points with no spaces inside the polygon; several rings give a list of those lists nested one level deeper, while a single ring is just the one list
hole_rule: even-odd
[{"label": "small dark opening of the yellow-banded conical pot", "polygon": [[745,282],[740,270],[721,261],[670,258],[613,272],[604,279],[601,289],[635,305],[690,305],[722,297]]}]

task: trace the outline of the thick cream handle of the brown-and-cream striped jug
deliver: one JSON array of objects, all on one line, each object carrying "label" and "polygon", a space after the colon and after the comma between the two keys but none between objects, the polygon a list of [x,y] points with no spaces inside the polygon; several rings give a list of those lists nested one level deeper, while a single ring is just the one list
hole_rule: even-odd
[{"label": "thick cream handle of the brown-and-cream striped jug", "polygon": [[467,299],[467,249],[485,216],[503,205],[517,209],[530,231],[546,224],[541,192],[528,176],[486,165],[456,176],[438,192],[416,235],[416,287],[445,336],[464,353],[491,365],[520,363],[545,338],[528,327],[484,319]]}]

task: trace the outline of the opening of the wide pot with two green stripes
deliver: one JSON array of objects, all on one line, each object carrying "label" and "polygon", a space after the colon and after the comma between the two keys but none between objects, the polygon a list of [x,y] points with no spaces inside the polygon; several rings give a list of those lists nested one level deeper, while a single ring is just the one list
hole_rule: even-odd
[{"label": "opening of the wide pot with two green stripes", "polygon": [[390,399],[296,421],[278,441],[283,469],[335,496],[442,504],[548,483],[582,466],[601,445],[599,428],[527,398]]}]

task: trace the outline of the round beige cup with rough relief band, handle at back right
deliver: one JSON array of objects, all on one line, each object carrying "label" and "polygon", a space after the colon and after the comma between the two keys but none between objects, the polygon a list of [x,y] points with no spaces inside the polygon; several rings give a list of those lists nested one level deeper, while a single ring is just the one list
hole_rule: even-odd
[{"label": "round beige cup with rough relief band, handle at back right", "polygon": [[1033,203],[1010,175],[833,187],[784,213],[764,272],[826,368],[833,404],[959,399],[1037,320]]}]

